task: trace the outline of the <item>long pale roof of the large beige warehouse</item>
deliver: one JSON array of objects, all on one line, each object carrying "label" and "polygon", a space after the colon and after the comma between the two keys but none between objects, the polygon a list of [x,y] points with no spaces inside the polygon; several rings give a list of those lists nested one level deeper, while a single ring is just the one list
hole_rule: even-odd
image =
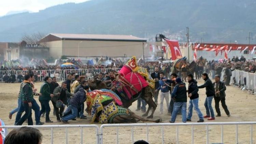
[{"label": "long pale roof of the large beige warehouse", "polygon": [[90,41],[138,41],[146,42],[146,39],[132,35],[110,35],[110,34],[72,34],[72,33],[50,33],[42,38],[39,43],[57,40],[90,40]]}]

